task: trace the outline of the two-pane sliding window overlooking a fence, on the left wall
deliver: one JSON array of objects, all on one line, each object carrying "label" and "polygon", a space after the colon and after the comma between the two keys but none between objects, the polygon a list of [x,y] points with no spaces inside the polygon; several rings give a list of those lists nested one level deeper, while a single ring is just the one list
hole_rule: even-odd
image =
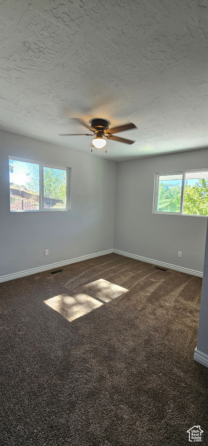
[{"label": "two-pane sliding window overlooking a fence, on the left wall", "polygon": [[9,157],[10,211],[69,211],[70,169]]}]

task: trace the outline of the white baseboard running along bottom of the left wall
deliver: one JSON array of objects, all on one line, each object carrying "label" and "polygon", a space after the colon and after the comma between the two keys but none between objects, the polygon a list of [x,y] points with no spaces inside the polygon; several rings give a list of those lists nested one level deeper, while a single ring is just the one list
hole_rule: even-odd
[{"label": "white baseboard running along bottom of the left wall", "polygon": [[62,260],[61,262],[26,269],[25,271],[19,271],[18,273],[6,274],[5,276],[0,276],[0,282],[7,282],[8,280],[18,279],[19,277],[30,276],[31,274],[41,273],[42,271],[47,271],[48,269],[60,268],[61,266],[69,265],[71,263],[82,262],[82,260],[94,259],[94,257],[105,256],[106,254],[111,254],[112,252],[114,252],[113,249],[108,249],[107,251],[94,252],[93,254],[88,254],[87,256],[75,257],[74,259],[70,260]]}]

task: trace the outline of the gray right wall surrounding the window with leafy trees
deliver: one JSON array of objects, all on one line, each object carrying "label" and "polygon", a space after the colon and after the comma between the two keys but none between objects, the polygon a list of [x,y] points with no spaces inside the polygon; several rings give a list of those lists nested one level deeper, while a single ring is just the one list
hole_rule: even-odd
[{"label": "gray right wall surrounding the window with leafy trees", "polygon": [[114,248],[203,271],[207,217],[152,214],[155,172],[201,168],[208,149],[118,163]]}]

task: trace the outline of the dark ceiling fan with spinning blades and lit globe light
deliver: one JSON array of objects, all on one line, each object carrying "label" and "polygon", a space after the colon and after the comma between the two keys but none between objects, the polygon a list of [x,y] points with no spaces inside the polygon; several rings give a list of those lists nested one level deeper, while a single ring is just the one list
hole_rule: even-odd
[{"label": "dark ceiling fan with spinning blades and lit globe light", "polygon": [[119,125],[118,127],[112,127],[109,128],[108,121],[105,119],[93,119],[91,121],[91,125],[86,124],[82,119],[73,118],[75,119],[79,124],[83,125],[83,127],[88,128],[93,133],[59,133],[59,136],[80,136],[80,135],[86,135],[86,136],[94,136],[95,138],[92,140],[92,144],[97,149],[102,149],[106,145],[106,140],[103,139],[103,136],[105,136],[108,139],[123,142],[125,144],[133,144],[135,141],[120,138],[119,136],[114,136],[113,133],[118,132],[124,132],[125,130],[129,130],[131,128],[137,128],[135,124],[132,124],[132,122],[124,125]]}]

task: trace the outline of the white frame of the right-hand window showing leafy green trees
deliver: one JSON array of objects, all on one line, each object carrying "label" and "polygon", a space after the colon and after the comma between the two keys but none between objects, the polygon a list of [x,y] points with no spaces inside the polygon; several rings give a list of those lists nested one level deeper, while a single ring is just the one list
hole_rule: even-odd
[{"label": "white frame of the right-hand window showing leafy green trees", "polygon": [[[154,194],[153,194],[153,214],[164,214],[164,215],[181,215],[183,217],[203,217],[208,218],[207,215],[193,215],[193,214],[183,214],[183,204],[184,204],[184,184],[185,184],[185,174],[189,172],[207,172],[207,169],[187,169],[187,170],[179,170],[174,172],[157,172],[155,173],[155,184],[154,184]],[[159,188],[159,176],[160,175],[183,175],[182,176],[182,186],[181,186],[181,197],[180,197],[180,211],[179,212],[165,212],[157,210],[157,202],[158,202],[158,188]]]}]

